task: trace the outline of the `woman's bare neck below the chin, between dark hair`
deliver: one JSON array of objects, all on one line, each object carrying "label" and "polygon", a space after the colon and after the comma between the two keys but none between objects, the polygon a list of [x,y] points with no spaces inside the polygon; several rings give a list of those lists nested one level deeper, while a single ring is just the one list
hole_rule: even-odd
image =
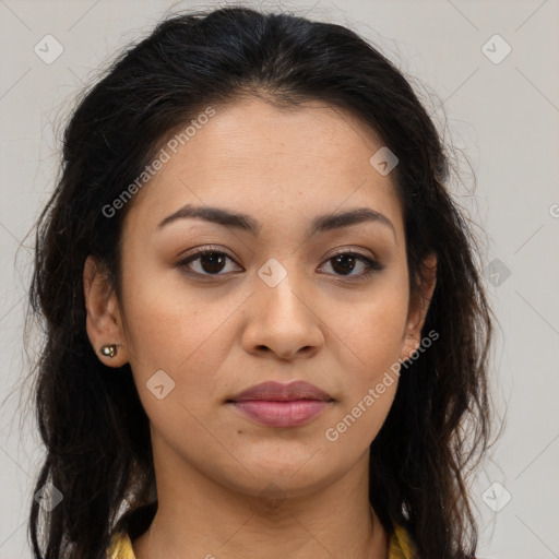
[{"label": "woman's bare neck below the chin, between dark hair", "polygon": [[368,461],[367,451],[313,490],[270,484],[258,495],[218,484],[183,460],[156,463],[157,513],[133,542],[135,557],[384,559],[388,538],[369,503]]}]

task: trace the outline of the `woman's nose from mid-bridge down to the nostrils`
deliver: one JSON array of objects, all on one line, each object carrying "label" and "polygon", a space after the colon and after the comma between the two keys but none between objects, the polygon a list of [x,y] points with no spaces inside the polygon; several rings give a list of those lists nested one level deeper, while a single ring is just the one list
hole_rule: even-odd
[{"label": "woman's nose from mid-bridge down to the nostrils", "polygon": [[258,281],[249,297],[242,345],[248,353],[273,353],[282,360],[310,357],[324,344],[316,300],[288,274],[271,287]]}]

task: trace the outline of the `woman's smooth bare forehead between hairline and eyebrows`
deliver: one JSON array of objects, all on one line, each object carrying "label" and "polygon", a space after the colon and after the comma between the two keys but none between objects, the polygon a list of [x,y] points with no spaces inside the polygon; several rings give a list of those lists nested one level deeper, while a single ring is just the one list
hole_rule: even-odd
[{"label": "woman's smooth bare forehead between hairline and eyebrows", "polygon": [[213,109],[182,143],[170,144],[176,153],[163,145],[167,160],[134,195],[127,221],[155,229],[189,202],[292,223],[366,204],[401,226],[394,183],[369,160],[382,143],[352,114],[321,102],[276,107],[252,96]]}]

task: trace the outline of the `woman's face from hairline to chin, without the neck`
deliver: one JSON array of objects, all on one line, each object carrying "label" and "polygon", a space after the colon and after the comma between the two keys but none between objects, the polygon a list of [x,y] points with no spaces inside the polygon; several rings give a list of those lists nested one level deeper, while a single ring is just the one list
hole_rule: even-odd
[{"label": "woman's face from hairline to chin, without the neck", "polygon": [[[156,461],[295,495],[368,460],[426,312],[409,297],[391,175],[369,163],[381,146],[324,104],[247,98],[215,107],[135,194],[122,298],[102,311],[90,292],[87,329],[96,348],[122,345],[104,362],[130,362]],[[266,381],[323,400],[238,397]]]}]

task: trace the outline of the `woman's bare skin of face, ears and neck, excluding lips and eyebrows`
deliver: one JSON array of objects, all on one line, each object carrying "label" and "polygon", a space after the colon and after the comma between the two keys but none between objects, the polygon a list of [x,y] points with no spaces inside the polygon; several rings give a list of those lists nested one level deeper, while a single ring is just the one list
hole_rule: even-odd
[{"label": "woman's bare skin of face, ears and neck, excluding lips and eyebrows", "polygon": [[[411,296],[402,207],[391,176],[369,163],[382,143],[358,119],[319,102],[284,109],[246,97],[215,108],[134,197],[122,299],[92,258],[84,269],[90,341],[107,366],[130,362],[151,424],[159,506],[135,556],[385,558],[368,500],[369,445],[397,376],[336,441],[324,433],[417,349],[436,261],[426,261],[426,299]],[[187,203],[250,214],[261,230],[200,219],[157,228]],[[393,229],[362,223],[306,239],[316,215],[362,206]],[[233,260],[177,265],[209,245]],[[346,272],[335,265],[340,249],[384,267],[359,278],[359,259]],[[275,287],[258,275],[271,258],[287,273]],[[99,354],[107,343],[120,344],[114,358]],[[159,400],[146,382],[162,369],[175,388]],[[267,380],[306,380],[334,402],[292,428],[225,403]]]}]

